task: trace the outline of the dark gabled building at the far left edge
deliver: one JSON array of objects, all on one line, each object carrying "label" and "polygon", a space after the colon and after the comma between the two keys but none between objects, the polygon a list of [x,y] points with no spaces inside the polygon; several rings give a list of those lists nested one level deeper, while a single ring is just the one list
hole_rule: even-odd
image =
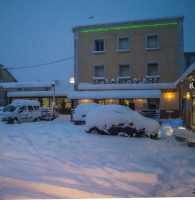
[{"label": "dark gabled building at the far left edge", "polygon": [[17,80],[0,64],[0,107],[8,103],[7,93],[2,87],[6,82],[17,82]]}]

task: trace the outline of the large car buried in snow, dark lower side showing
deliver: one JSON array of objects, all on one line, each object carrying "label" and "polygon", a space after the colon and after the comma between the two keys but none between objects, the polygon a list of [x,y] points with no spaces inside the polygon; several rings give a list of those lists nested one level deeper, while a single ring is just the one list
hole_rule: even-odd
[{"label": "large car buried in snow, dark lower side showing", "polygon": [[109,104],[86,116],[86,132],[157,138],[160,124],[122,105]]}]

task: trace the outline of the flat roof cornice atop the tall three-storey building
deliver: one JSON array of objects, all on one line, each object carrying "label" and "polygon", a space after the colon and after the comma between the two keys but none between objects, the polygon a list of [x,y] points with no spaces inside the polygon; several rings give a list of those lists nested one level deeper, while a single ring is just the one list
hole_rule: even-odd
[{"label": "flat roof cornice atop the tall three-storey building", "polygon": [[115,26],[126,26],[126,25],[144,25],[151,23],[171,23],[171,22],[183,22],[183,16],[169,17],[169,18],[155,18],[155,19],[144,19],[144,20],[135,20],[135,21],[125,21],[125,22],[115,22],[115,23],[104,23],[96,25],[86,25],[86,26],[75,26],[72,28],[73,33],[77,30],[87,30],[87,29],[96,29],[96,28],[106,28],[106,27],[115,27]]}]

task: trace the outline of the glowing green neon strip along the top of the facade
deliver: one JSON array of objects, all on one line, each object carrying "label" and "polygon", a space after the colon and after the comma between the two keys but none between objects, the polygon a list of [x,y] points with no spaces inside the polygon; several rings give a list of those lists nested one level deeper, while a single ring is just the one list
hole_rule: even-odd
[{"label": "glowing green neon strip along the top of the facade", "polygon": [[146,25],[134,25],[134,26],[117,26],[110,28],[97,28],[79,31],[80,33],[98,32],[98,31],[112,31],[112,30],[123,30],[123,29],[135,29],[135,28],[147,28],[147,27],[158,27],[158,26],[171,26],[177,25],[177,22],[160,23],[160,24],[146,24]]}]

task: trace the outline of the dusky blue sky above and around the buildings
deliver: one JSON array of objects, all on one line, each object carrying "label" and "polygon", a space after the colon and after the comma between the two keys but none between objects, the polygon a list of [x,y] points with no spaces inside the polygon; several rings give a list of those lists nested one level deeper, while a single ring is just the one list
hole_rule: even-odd
[{"label": "dusky blue sky above and around the buildings", "polygon": [[[184,51],[195,52],[195,0],[0,0],[0,64],[18,81],[69,81],[74,26],[184,16]],[[92,18],[90,18],[93,16]]]}]

